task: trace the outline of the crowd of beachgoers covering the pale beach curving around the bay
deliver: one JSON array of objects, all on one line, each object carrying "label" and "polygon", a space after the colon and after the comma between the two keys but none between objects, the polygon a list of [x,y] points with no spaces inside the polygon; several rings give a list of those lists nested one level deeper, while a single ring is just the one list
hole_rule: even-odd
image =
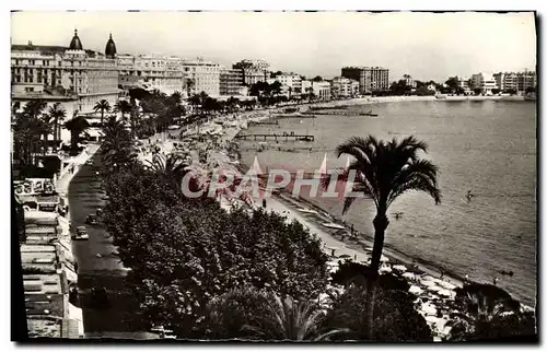
[{"label": "crowd of beachgoers covering the pale beach curving around the bay", "polygon": [[[430,96],[386,96],[386,97],[366,97],[342,102],[317,103],[316,108],[339,107],[356,104],[371,104],[379,102],[409,101],[409,99],[431,99]],[[303,106],[309,108],[309,106]],[[181,130],[170,131],[163,136],[154,136],[148,140],[148,145],[142,148],[141,157],[150,160],[154,153],[170,154],[174,152],[183,152],[188,156],[194,169],[203,172],[212,171],[221,167],[222,169],[232,169],[237,172],[238,165],[238,144],[234,142],[234,137],[243,129],[246,129],[249,122],[259,122],[270,119],[271,116],[280,113],[279,109],[264,109],[255,112],[245,112],[240,114],[218,115],[210,118],[207,122],[199,126],[189,126]],[[205,132],[203,131],[208,131]],[[210,133],[210,131],[216,131]],[[191,142],[189,142],[191,141]],[[146,141],[143,141],[146,143]],[[264,150],[265,144],[255,144],[257,151]],[[278,150],[295,152],[296,149],[276,146]],[[307,148],[302,148],[302,151]],[[310,149],[312,152],[313,149]],[[472,191],[467,193],[467,199],[470,201],[474,195]],[[226,210],[233,206],[233,202],[222,201],[221,204]],[[371,238],[364,234],[357,232],[352,224],[346,223],[344,220],[336,219],[327,213],[322,213],[321,210],[314,210],[311,204],[303,203],[300,199],[291,199],[290,197],[278,197],[270,200],[258,200],[252,207],[261,207],[271,211],[276,211],[289,219],[295,219],[299,222],[306,224],[315,230],[314,232],[324,240],[324,251],[331,257],[328,262],[331,271],[336,271],[340,260],[351,258],[354,261],[366,263],[371,255]],[[306,208],[307,207],[307,208]],[[401,213],[394,214],[396,220],[401,218]],[[333,231],[322,224],[338,224],[338,231]],[[342,228],[342,231],[339,231]],[[326,244],[330,245],[327,246]],[[335,244],[334,246],[331,244]],[[357,249],[356,249],[357,248]],[[422,314],[433,328],[438,338],[445,337],[450,328],[445,327],[449,321],[447,306],[454,301],[456,295],[455,289],[461,288],[464,283],[472,282],[469,275],[458,278],[446,273],[443,269],[432,268],[411,260],[404,255],[395,251],[385,250],[386,256],[383,256],[382,272],[394,272],[405,278],[410,284],[410,291],[417,294],[418,298],[415,302],[416,308]],[[497,285],[499,278],[492,279],[493,285]]]}]

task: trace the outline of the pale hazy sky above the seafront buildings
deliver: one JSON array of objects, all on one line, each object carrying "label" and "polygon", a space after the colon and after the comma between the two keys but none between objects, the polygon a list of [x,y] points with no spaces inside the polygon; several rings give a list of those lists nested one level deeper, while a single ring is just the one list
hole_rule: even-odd
[{"label": "pale hazy sky above the seafront buildings", "polygon": [[12,44],[202,57],[224,66],[265,59],[275,71],[333,78],[345,66],[444,81],[477,72],[534,70],[534,13],[418,12],[15,12]]}]

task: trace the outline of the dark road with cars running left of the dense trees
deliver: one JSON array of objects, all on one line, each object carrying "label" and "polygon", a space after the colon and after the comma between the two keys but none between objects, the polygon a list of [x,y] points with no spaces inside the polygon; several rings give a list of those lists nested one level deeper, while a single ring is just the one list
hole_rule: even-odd
[{"label": "dark road with cars running left of the dense trees", "polygon": [[[85,337],[116,337],[150,339],[138,312],[138,303],[126,286],[127,270],[116,256],[116,248],[101,225],[86,225],[85,216],[104,207],[104,193],[95,174],[98,155],[93,156],[94,165],[83,165],[72,178],[68,189],[69,211],[72,231],[85,225],[89,240],[73,240],[72,250],[78,261],[78,286],[83,313]],[[98,256],[97,256],[98,255]],[[91,289],[104,286],[108,295],[108,306],[97,307],[92,303]]]}]

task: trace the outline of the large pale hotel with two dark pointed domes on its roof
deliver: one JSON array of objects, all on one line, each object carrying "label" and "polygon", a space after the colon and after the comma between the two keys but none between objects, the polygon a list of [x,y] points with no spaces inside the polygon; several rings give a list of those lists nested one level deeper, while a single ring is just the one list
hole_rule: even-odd
[{"label": "large pale hotel with two dark pointed domes on its roof", "polygon": [[[77,113],[93,113],[96,102],[110,106],[118,101],[116,44],[112,35],[105,54],[84,49],[78,30],[68,47],[34,45],[11,46],[12,103],[23,107],[28,101],[61,103],[71,118]],[[69,138],[68,132],[61,136]]]}]

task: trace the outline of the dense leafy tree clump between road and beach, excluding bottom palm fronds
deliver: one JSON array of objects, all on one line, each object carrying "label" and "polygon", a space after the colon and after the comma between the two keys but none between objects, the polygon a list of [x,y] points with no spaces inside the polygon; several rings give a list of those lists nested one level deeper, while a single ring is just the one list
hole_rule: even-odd
[{"label": "dense leafy tree clump between road and beach, excluding bottom palm fronds", "polygon": [[[130,280],[151,322],[170,326],[178,337],[201,338],[207,304],[232,289],[266,288],[302,298],[324,291],[327,257],[300,223],[263,210],[228,213],[207,198],[185,199],[172,181],[184,172],[178,163],[144,167],[130,157],[120,124],[113,121],[105,133],[102,155],[110,167],[104,222],[132,269]],[[115,152],[108,150],[114,145]]]}]

